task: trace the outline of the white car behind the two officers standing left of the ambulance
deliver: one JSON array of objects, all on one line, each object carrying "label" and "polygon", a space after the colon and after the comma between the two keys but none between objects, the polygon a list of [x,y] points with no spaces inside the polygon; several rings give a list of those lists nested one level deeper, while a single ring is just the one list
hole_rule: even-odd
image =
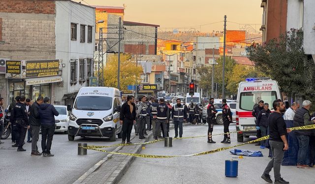
[{"label": "white car behind the two officers standing left of the ambulance", "polygon": [[[202,122],[206,122],[207,121],[207,107],[208,104],[205,104],[203,109],[202,109]],[[236,123],[236,102],[227,102],[226,103],[232,112],[232,123]],[[215,107],[216,110],[218,111],[217,116],[216,116],[216,123],[218,125],[223,125],[223,119],[222,119],[222,103],[216,103],[215,102]]]}]

